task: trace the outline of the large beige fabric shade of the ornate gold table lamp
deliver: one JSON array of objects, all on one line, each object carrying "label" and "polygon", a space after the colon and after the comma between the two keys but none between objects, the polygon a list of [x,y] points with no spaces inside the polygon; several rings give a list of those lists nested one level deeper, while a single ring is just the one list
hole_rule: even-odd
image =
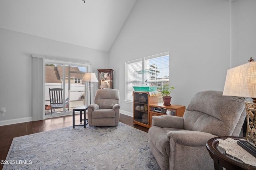
[{"label": "large beige fabric shade of the ornate gold table lamp", "polygon": [[255,61],[228,70],[223,95],[256,98]]}]

